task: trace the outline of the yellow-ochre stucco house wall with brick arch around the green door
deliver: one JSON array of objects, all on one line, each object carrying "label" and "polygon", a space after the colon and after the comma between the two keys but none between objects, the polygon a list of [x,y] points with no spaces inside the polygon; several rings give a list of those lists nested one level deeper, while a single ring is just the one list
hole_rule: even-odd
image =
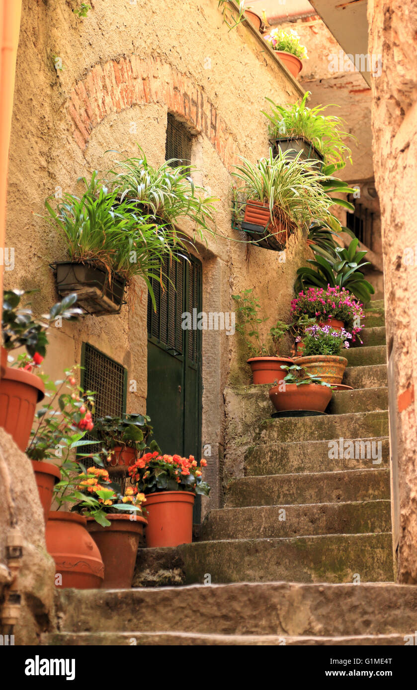
[{"label": "yellow-ochre stucco house wall with brick arch around the green door", "polygon": [[[57,187],[74,191],[80,175],[104,173],[117,157],[144,148],[152,164],[165,156],[168,110],[185,119],[197,138],[193,162],[199,181],[219,197],[219,236],[202,247],[204,311],[231,311],[231,294],[254,287],[272,319],[289,315],[295,270],[304,243],[293,243],[287,261],[277,253],[235,242],[231,230],[230,169],[238,155],[268,150],[260,110],[269,95],[292,103],[302,90],[249,25],[229,32],[217,3],[172,0],[90,2],[85,19],[75,2],[23,1],[10,144],[7,244],[14,270],[6,287],[39,287],[41,313],[56,301],[50,262],[65,258],[64,244],[42,219],[43,201]],[[55,57],[63,69],[56,70]],[[186,223],[184,223],[186,228]],[[135,309],[118,316],[87,316],[53,329],[45,370],[53,377],[79,362],[89,342],[128,368],[137,391],[127,411],[146,409],[146,290]],[[229,380],[246,382],[249,368],[237,336],[203,333],[203,443],[213,455],[208,473],[218,477],[222,454],[222,391]],[[172,449],[175,452],[175,449]],[[213,487],[213,505],[219,487]]]}]

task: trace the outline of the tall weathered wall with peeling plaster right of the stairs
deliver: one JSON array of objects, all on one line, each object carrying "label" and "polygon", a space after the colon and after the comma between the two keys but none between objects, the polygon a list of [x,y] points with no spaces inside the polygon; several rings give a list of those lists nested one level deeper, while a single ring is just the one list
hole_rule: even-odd
[{"label": "tall weathered wall with peeling plaster right of the stairs", "polygon": [[394,517],[400,513],[398,580],[417,583],[417,6],[412,0],[369,0],[368,17],[369,52],[382,55],[382,75],[372,82],[372,128],[393,363],[389,386],[394,480],[398,465],[398,486],[393,487],[398,496]]}]

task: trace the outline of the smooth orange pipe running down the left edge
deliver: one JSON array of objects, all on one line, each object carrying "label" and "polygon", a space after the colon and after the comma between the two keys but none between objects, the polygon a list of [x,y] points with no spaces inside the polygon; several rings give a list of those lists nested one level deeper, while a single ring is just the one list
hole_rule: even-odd
[{"label": "smooth orange pipe running down the left edge", "polygon": [[[20,18],[21,0],[0,0],[0,248],[4,247],[6,232],[7,170]],[[0,304],[3,304],[3,262]]]}]

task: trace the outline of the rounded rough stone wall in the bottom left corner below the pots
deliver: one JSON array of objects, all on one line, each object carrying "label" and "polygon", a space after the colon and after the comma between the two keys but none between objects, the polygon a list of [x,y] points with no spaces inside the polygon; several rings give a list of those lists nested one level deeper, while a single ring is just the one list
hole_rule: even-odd
[{"label": "rounded rough stone wall in the bottom left corner below the pots", "polygon": [[0,428],[0,618],[10,572],[6,544],[11,526],[22,536],[23,555],[17,580],[21,595],[20,618],[14,644],[37,644],[53,620],[55,563],[46,552],[43,510],[29,458]]}]

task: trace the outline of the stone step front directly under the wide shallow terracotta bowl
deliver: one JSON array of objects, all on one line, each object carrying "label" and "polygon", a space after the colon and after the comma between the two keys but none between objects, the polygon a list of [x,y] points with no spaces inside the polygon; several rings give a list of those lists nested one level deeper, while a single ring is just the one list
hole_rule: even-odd
[{"label": "stone step front directly under the wide shallow terracotta bowl", "polygon": [[358,412],[345,415],[284,417],[266,419],[258,426],[260,444],[273,442],[323,441],[335,438],[362,438],[388,435],[388,412]]}]

